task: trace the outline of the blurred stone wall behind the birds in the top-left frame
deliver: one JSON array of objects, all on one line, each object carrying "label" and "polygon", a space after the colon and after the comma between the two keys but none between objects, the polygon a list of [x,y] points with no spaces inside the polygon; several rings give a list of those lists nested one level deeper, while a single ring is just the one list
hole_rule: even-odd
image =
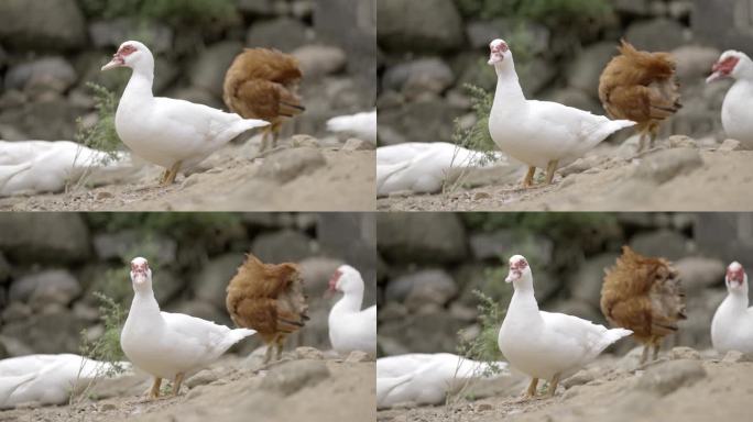
[{"label": "blurred stone wall behind the birds in the top-left frame", "polygon": [[374,107],[375,25],[372,0],[3,0],[0,138],[73,141],[76,118],[95,125],[87,82],[120,97],[130,71],[100,67],[128,40],[155,55],[155,95],[220,109],[243,47],[295,55],[306,112],[283,135],[317,135],[328,118]]}]

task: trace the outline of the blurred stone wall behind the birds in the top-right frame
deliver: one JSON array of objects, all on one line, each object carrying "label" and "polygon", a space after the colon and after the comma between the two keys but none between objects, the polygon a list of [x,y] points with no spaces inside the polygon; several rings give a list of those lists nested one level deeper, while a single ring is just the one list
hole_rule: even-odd
[{"label": "blurred stone wall behind the birds in the top-right frame", "polygon": [[493,92],[487,60],[498,37],[510,44],[528,98],[599,114],[599,76],[621,37],[672,52],[684,108],[661,135],[711,144],[723,140],[731,81],[707,86],[705,78],[724,49],[753,54],[750,0],[378,0],[378,12],[380,145],[449,142],[473,126],[463,86]]}]

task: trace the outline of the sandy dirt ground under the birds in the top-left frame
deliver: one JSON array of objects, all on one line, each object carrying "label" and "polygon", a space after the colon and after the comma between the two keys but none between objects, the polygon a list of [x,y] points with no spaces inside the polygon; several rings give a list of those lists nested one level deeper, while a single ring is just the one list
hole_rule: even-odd
[{"label": "sandy dirt ground under the birds in the top-left frame", "polygon": [[[295,154],[305,149],[306,154]],[[293,155],[291,155],[293,153]],[[321,157],[324,159],[321,159]],[[229,145],[199,171],[162,187],[162,169],[138,163],[98,187],[0,198],[0,211],[373,211],[375,153],[284,148],[263,157]],[[265,163],[268,162],[268,163]],[[95,176],[96,177],[96,176]]]}]

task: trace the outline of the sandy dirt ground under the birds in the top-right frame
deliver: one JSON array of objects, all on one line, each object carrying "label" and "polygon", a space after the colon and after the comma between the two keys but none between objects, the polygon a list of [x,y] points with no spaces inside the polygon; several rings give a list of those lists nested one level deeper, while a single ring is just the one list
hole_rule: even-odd
[{"label": "sandy dirt ground under the birds in the top-right frame", "polygon": [[[680,149],[687,149],[677,153]],[[692,151],[692,153],[689,153]],[[687,152],[687,154],[685,154]],[[697,159],[699,157],[700,159]],[[632,159],[589,157],[596,165],[550,186],[520,180],[437,195],[394,195],[380,211],[749,211],[753,152],[675,148]]]}]

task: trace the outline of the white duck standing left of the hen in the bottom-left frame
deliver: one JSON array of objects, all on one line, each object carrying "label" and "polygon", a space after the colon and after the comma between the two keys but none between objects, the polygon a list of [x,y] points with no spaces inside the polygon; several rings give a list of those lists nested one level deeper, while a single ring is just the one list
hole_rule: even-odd
[{"label": "white duck standing left of the hen in the bottom-left frame", "polygon": [[177,396],[185,376],[200,370],[233,344],[255,333],[231,330],[200,318],[160,311],[152,291],[152,270],[142,257],[131,260],[133,302],[120,334],[126,356],[154,376],[150,397],[160,396],[162,378],[173,379]]}]

